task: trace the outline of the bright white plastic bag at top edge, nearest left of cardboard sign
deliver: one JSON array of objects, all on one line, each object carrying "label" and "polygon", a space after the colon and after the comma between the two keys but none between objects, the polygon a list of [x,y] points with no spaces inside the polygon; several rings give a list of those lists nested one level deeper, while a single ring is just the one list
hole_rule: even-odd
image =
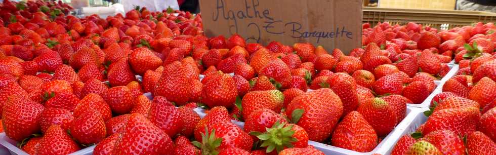
[{"label": "bright white plastic bag at top edge, nearest left of cardboard sign", "polygon": [[120,2],[126,12],[133,10],[136,6],[146,7],[149,11],[162,11],[168,7],[179,10],[177,0],[121,0]]}]

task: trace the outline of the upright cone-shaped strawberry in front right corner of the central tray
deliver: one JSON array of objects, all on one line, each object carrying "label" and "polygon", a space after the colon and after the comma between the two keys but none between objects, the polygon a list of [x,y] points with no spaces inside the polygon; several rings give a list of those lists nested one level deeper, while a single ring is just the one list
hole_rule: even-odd
[{"label": "upright cone-shaped strawberry in front right corner of the central tray", "polygon": [[332,137],[333,146],[354,151],[368,152],[377,146],[376,131],[357,111],[351,111],[343,118]]}]

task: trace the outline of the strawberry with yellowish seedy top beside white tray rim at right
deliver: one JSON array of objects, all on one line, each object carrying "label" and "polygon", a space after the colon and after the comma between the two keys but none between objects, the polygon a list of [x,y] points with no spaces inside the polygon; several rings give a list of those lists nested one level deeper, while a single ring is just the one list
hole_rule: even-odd
[{"label": "strawberry with yellowish seedy top beside white tray rim at right", "polygon": [[378,136],[388,135],[396,126],[396,112],[393,110],[388,102],[380,98],[368,99],[357,109],[376,130]]}]

